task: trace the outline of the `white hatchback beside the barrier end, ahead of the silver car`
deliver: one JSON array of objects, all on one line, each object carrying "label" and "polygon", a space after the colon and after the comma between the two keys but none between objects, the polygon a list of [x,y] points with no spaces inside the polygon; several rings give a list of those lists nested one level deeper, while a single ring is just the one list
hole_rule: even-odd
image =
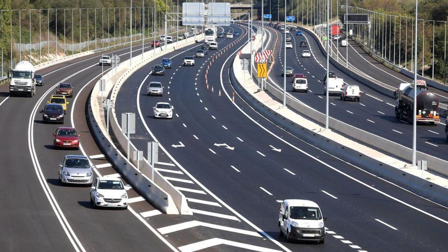
[{"label": "white hatchback beside the barrier end, ahead of the silver car", "polygon": [[128,194],[120,178],[97,177],[90,189],[90,203],[95,207],[128,208]]}]

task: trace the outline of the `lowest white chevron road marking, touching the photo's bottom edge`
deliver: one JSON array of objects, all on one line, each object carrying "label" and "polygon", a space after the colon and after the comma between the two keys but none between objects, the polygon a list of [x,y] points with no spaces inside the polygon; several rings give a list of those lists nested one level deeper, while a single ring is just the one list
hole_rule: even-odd
[{"label": "lowest white chevron road marking, touching the photo's bottom edge", "polygon": [[249,249],[249,250],[254,250],[254,251],[260,251],[260,252],[279,252],[279,251],[281,251],[281,250],[275,250],[275,249],[271,249],[271,248],[265,248],[265,247],[250,245],[250,244],[246,244],[246,243],[236,242],[236,241],[229,241],[229,240],[225,240],[225,239],[221,239],[221,238],[212,238],[212,239],[208,239],[205,241],[191,243],[191,244],[188,244],[185,246],[181,246],[181,247],[179,247],[179,249],[182,252],[193,252],[193,251],[198,251],[198,250],[201,250],[204,248],[213,247],[213,246],[222,245],[222,244],[239,247],[239,248],[244,248],[244,249]]}]

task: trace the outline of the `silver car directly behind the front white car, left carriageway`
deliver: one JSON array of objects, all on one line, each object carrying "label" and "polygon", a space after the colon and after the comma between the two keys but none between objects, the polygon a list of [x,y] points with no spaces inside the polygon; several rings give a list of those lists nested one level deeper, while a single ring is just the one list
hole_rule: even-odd
[{"label": "silver car directly behind the front white car, left carriageway", "polygon": [[62,184],[85,184],[93,182],[93,171],[86,156],[67,155],[59,164],[59,181]]}]

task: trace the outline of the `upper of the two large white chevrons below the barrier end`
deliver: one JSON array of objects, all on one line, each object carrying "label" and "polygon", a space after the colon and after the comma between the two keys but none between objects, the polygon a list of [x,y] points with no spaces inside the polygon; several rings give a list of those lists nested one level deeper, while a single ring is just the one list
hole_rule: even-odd
[{"label": "upper of the two large white chevrons below the barrier end", "polygon": [[212,224],[212,223],[202,222],[202,221],[198,221],[198,220],[190,220],[190,221],[178,223],[178,224],[175,224],[175,225],[159,228],[157,230],[162,235],[166,235],[166,234],[182,231],[182,230],[185,230],[185,229],[191,229],[191,228],[194,228],[194,227],[200,227],[200,226],[207,227],[207,228],[212,228],[212,229],[217,229],[217,230],[222,230],[222,231],[234,232],[234,233],[243,234],[243,235],[250,235],[250,236],[261,237],[260,234],[258,234],[257,232],[254,232],[254,231],[247,231],[247,230],[243,230],[243,229],[230,228],[230,227],[221,226],[221,225],[215,225],[215,224]]}]

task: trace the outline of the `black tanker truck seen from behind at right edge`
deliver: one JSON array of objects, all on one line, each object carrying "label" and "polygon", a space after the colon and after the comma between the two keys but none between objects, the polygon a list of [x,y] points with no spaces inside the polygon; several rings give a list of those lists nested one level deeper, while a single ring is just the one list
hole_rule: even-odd
[{"label": "black tanker truck seen from behind at right edge", "polygon": [[395,104],[395,116],[398,119],[404,119],[407,123],[413,123],[413,117],[416,115],[417,122],[429,122],[437,125],[440,122],[440,116],[437,112],[439,107],[439,99],[437,96],[428,91],[426,82],[419,80],[417,82],[417,110],[412,112],[414,108],[414,84],[401,83],[397,91],[394,92],[397,99]]}]

